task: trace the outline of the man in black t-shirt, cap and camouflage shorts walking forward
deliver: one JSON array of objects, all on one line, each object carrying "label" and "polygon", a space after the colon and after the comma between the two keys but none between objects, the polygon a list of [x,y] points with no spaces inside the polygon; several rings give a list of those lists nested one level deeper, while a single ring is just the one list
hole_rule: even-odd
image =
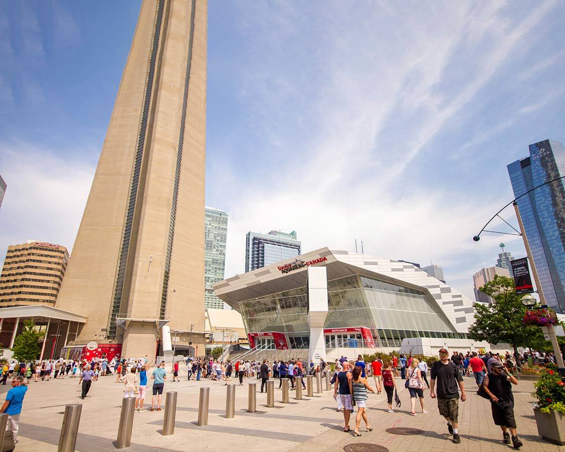
[{"label": "man in black t-shirt, cap and camouflage shorts walking forward", "polygon": [[436,397],[436,380],[437,380],[437,407],[440,414],[447,420],[447,430],[453,434],[453,442],[459,444],[459,388],[461,389],[461,401],[467,399],[465,387],[463,385],[463,377],[457,366],[452,363],[448,357],[449,352],[446,349],[440,349],[440,360],[433,363],[430,374],[430,392],[432,398]]}]

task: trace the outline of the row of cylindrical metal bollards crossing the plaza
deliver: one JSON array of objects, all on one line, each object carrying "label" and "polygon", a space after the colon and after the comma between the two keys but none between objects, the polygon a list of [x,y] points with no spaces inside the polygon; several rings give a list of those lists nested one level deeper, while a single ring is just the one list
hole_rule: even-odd
[{"label": "row of cylindrical metal bollards crossing the plaza", "polygon": [[[306,376],[306,394],[308,397],[313,396],[314,376]],[[282,403],[289,403],[289,381],[282,380]],[[325,389],[330,390],[329,372],[325,375]],[[321,372],[316,373],[316,393],[322,392],[322,376]],[[295,399],[302,399],[302,377],[295,377]],[[122,399],[120,422],[118,426],[118,438],[116,440],[116,449],[124,449],[131,445],[133,415],[136,399],[128,397]],[[208,425],[208,405],[210,403],[210,388],[200,388],[200,398],[198,401],[198,422],[200,427]],[[171,435],[175,433],[175,416],[177,405],[177,392],[167,392],[165,400],[165,412],[163,418],[162,434]],[[228,385],[225,396],[225,417],[231,419],[235,415],[236,406],[236,385]],[[275,406],[275,381],[267,381],[267,407]],[[257,412],[257,383],[249,384],[249,405],[247,411]],[[58,452],[73,452],[76,447],[76,437],[79,431],[80,415],[82,405],[67,405],[65,407],[63,425],[59,437]],[[3,442],[6,434],[6,423],[8,415],[0,414],[0,451],[3,450]],[[4,426],[3,428],[1,426]]]}]

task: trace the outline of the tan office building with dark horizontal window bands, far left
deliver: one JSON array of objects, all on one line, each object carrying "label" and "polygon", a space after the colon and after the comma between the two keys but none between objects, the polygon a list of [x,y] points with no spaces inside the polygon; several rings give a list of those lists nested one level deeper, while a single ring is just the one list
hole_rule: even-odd
[{"label": "tan office building with dark horizontal window bands, far left", "polygon": [[28,240],[8,246],[0,275],[0,307],[55,305],[68,259],[61,245]]}]

